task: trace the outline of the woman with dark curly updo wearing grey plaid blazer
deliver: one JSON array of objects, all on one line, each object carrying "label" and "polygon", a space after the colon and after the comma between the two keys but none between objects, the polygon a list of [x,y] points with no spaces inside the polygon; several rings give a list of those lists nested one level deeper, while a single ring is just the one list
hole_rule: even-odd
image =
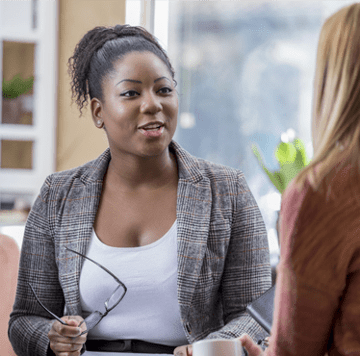
[{"label": "woman with dark curly updo wearing grey plaid blazer", "polygon": [[265,332],[246,305],[270,287],[265,226],[243,174],[172,140],[174,70],[139,27],[97,27],[70,58],[109,148],[49,176],[25,229],[9,336],[17,355],[186,354]]}]

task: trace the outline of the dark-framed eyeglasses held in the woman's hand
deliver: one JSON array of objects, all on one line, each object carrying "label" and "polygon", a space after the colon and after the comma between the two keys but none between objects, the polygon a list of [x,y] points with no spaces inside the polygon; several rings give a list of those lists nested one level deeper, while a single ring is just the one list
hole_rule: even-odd
[{"label": "dark-framed eyeglasses held in the woman's hand", "polygon": [[[83,255],[80,252],[77,252],[69,247],[65,247],[67,250],[76,253],[77,255],[86,258],[87,260],[95,263],[97,266],[99,266],[100,268],[102,268],[104,271],[106,271],[107,273],[110,274],[110,276],[112,276],[115,281],[119,284],[116,289],[114,290],[114,292],[111,294],[111,296],[105,301],[105,312],[102,313],[98,310],[92,312],[89,316],[87,316],[85,318],[85,320],[83,320],[78,326],[81,326],[81,324],[85,323],[87,329],[85,331],[83,331],[79,336],[84,335],[86,333],[88,333],[91,329],[93,329],[97,324],[100,323],[100,321],[102,319],[104,319],[106,317],[106,315],[108,315],[124,298],[127,288],[125,286],[124,283],[122,283],[112,272],[110,272],[107,268],[105,268],[104,266],[102,266],[100,263],[94,261],[93,259]],[[64,320],[60,319],[58,316],[56,316],[54,313],[52,313],[48,308],[45,307],[45,305],[40,301],[40,299],[38,298],[38,296],[35,293],[35,290],[33,288],[33,286],[29,283],[29,286],[32,290],[32,292],[34,293],[34,296],[37,300],[37,302],[41,305],[41,307],[46,310],[52,317],[54,317],[56,320],[58,320],[61,324],[63,325],[68,325]]]}]

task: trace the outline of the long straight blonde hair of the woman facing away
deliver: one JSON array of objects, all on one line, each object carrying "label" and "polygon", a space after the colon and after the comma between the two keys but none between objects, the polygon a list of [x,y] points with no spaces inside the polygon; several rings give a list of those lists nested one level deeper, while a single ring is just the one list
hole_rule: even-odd
[{"label": "long straight blonde hair of the woman facing away", "polygon": [[339,168],[360,173],[360,3],[329,17],[320,33],[312,115],[314,158],[297,177],[314,189]]}]

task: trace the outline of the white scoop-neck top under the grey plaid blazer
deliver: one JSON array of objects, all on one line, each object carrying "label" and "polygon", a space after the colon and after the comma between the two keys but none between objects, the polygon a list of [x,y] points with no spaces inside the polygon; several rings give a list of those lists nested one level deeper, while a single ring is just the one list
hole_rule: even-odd
[{"label": "white scoop-neck top under the grey plaid blazer", "polygon": [[[159,240],[140,247],[112,247],[92,233],[86,255],[109,269],[127,287],[120,304],[89,332],[89,339],[140,339],[164,345],[188,343],[177,299],[176,221]],[[84,259],[80,300],[86,315],[105,311],[117,286],[103,269]]]}]

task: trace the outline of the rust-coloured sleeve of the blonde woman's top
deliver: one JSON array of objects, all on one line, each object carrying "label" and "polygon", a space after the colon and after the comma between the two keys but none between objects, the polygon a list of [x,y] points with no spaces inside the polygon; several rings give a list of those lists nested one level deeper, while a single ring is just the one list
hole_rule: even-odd
[{"label": "rust-coloured sleeve of the blonde woman's top", "polygon": [[346,204],[345,197],[335,202],[309,186],[299,191],[291,185],[284,193],[267,356],[327,352],[351,259],[351,252],[345,252],[349,222]]}]

